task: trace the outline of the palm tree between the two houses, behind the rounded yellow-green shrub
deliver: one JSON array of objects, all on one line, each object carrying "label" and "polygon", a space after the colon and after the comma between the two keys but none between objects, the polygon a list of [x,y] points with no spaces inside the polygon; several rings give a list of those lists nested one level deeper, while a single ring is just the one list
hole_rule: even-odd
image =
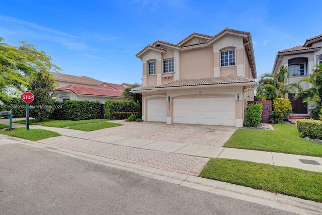
[{"label": "palm tree between the two houses, behind the rounded yellow-green shrub", "polygon": [[257,83],[258,99],[274,100],[275,98],[286,98],[288,94],[297,94],[298,84],[290,84],[288,79],[288,67],[285,66],[281,66],[277,73],[263,74]]}]

